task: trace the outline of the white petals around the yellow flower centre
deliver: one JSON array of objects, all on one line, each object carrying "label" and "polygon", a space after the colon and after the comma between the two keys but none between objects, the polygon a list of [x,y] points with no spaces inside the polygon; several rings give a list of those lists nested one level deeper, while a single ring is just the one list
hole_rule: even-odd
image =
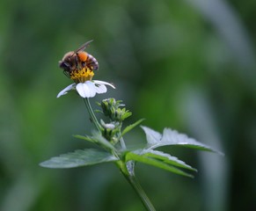
[{"label": "white petals around the yellow flower centre", "polygon": [[78,94],[82,98],[93,98],[96,94],[105,93],[107,91],[106,85],[109,85],[113,89],[115,89],[113,84],[97,80],[85,81],[84,83],[78,84],[70,84],[57,95],[57,98],[60,98],[62,95],[67,94],[70,90],[77,90]]}]

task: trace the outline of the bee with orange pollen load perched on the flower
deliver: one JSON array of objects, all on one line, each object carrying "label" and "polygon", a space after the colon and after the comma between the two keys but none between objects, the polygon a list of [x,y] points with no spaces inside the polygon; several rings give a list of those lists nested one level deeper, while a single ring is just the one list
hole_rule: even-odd
[{"label": "bee with orange pollen load perched on the flower", "polygon": [[72,72],[84,68],[90,69],[91,71],[99,69],[98,61],[92,55],[84,51],[91,42],[92,40],[87,41],[76,51],[70,51],[63,56],[62,61],[59,62],[59,67],[63,69],[66,76],[70,76]]}]

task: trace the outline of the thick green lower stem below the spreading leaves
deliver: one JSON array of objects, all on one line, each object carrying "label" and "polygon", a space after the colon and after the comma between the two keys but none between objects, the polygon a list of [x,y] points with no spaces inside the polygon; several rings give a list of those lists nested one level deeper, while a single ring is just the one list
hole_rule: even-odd
[{"label": "thick green lower stem below the spreading leaves", "polygon": [[140,197],[140,200],[143,202],[143,206],[148,211],[156,211],[147,194],[144,192],[143,187],[140,185],[139,181],[135,177],[134,172],[129,172],[127,169],[127,164],[124,164],[123,162],[121,162],[121,165],[118,165],[121,169],[123,176],[128,180],[128,183],[133,187],[135,193],[137,193],[137,195]]}]

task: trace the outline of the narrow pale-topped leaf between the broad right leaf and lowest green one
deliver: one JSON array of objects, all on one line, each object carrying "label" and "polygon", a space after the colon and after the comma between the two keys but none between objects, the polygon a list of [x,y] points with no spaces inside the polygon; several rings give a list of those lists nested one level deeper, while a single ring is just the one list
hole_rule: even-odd
[{"label": "narrow pale-topped leaf between the broad right leaf and lowest green one", "polygon": [[142,149],[142,150],[136,150],[135,154],[152,157],[152,158],[161,160],[166,164],[172,164],[179,168],[196,171],[196,169],[192,168],[190,165],[186,164],[184,161],[179,160],[178,157],[171,156],[170,154],[167,154],[163,151],[158,151],[153,149]]}]

